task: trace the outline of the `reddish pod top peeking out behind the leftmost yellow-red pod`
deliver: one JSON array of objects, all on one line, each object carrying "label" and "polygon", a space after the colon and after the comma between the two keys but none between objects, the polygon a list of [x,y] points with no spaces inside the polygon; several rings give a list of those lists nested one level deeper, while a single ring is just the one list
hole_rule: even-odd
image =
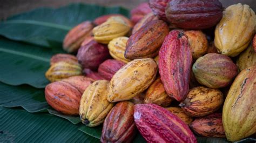
[{"label": "reddish pod top peeking out behind the leftmost yellow-red pod", "polygon": [[70,55],[70,54],[65,54],[65,53],[58,53],[56,55],[53,55],[51,57],[51,65],[58,63],[60,61],[67,61],[67,62],[73,62],[73,63],[78,63],[77,57]]}]

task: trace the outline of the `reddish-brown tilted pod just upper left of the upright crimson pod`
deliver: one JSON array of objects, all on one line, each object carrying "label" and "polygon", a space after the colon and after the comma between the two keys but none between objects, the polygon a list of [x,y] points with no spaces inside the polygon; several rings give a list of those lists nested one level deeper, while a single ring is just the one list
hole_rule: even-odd
[{"label": "reddish-brown tilted pod just upper left of the upright crimson pod", "polygon": [[136,31],[127,41],[124,57],[127,59],[153,58],[168,34],[164,21],[151,21]]}]

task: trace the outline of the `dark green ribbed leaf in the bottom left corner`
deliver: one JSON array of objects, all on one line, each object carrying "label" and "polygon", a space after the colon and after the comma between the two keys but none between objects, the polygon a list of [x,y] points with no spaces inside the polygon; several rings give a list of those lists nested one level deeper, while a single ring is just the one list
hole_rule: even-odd
[{"label": "dark green ribbed leaf in the bottom left corner", "polygon": [[0,107],[1,142],[99,142],[79,132],[78,125],[50,114],[31,114]]}]

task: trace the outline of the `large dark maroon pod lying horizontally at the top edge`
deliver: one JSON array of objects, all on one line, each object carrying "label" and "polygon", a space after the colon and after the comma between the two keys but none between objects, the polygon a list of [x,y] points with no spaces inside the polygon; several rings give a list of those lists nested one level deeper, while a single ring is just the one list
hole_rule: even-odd
[{"label": "large dark maroon pod lying horizontally at the top edge", "polygon": [[218,0],[175,0],[165,9],[168,21],[179,28],[206,29],[216,25],[223,16]]}]

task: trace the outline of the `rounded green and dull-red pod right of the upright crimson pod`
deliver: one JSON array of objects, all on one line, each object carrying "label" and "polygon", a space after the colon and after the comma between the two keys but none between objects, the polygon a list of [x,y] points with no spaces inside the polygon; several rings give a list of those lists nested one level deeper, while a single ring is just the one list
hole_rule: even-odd
[{"label": "rounded green and dull-red pod right of the upright crimson pod", "polygon": [[192,69],[197,81],[209,88],[227,86],[238,73],[231,58],[218,53],[207,53],[198,58]]}]

